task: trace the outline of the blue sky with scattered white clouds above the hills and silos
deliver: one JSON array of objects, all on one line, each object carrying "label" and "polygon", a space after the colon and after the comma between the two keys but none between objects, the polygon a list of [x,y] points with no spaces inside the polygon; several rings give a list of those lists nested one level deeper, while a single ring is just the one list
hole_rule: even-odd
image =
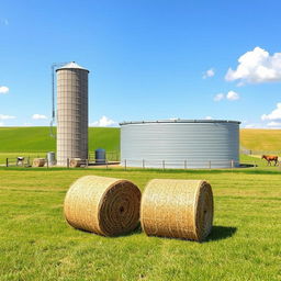
[{"label": "blue sky with scattered white clouds above the hills and silos", "polygon": [[46,126],[53,63],[90,70],[89,124],[281,128],[281,1],[0,0],[0,126]]}]

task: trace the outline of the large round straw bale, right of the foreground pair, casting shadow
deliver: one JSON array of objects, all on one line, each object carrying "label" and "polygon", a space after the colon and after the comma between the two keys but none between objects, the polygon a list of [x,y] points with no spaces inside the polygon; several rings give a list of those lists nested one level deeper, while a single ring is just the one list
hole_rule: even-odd
[{"label": "large round straw bale, right of the foreground pair, casting shadow", "polygon": [[140,223],[147,235],[201,241],[211,233],[213,213],[206,181],[155,179],[142,198]]}]

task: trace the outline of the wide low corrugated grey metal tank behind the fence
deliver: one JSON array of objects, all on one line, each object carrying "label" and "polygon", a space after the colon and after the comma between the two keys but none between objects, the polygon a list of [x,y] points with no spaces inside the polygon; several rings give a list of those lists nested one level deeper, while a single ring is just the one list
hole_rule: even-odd
[{"label": "wide low corrugated grey metal tank behind the fence", "polygon": [[239,124],[224,120],[121,123],[121,164],[151,168],[239,166]]}]

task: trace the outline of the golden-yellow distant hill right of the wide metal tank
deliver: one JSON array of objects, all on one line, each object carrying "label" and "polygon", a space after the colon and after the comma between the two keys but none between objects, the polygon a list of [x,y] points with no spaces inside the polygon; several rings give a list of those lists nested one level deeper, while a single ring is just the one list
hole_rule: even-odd
[{"label": "golden-yellow distant hill right of the wide metal tank", "polygon": [[240,144],[251,150],[281,150],[281,130],[241,128]]}]

